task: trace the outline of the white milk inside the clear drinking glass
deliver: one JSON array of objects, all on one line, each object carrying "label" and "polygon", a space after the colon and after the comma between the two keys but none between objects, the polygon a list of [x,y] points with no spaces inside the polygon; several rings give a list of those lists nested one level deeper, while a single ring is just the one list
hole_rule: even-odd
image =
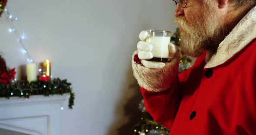
[{"label": "white milk inside the clear drinking glass", "polygon": [[153,45],[152,54],[154,58],[168,58],[169,48],[168,45],[171,41],[171,37],[154,36],[146,39]]}]

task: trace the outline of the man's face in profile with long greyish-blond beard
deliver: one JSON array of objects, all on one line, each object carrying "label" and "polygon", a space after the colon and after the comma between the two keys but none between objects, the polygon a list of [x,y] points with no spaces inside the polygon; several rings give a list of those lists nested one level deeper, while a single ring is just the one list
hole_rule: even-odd
[{"label": "man's face in profile with long greyish-blond beard", "polygon": [[224,39],[223,19],[219,19],[213,0],[187,0],[177,6],[174,22],[181,30],[181,49],[186,55],[198,57],[203,49],[212,49]]}]

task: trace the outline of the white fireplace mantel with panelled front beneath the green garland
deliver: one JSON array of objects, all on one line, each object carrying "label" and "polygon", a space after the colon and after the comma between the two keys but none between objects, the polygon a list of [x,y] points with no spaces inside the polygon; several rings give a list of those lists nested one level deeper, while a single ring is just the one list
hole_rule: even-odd
[{"label": "white fireplace mantel with panelled front beneath the green garland", "polygon": [[68,98],[69,94],[0,98],[0,128],[29,135],[61,135],[61,107]]}]

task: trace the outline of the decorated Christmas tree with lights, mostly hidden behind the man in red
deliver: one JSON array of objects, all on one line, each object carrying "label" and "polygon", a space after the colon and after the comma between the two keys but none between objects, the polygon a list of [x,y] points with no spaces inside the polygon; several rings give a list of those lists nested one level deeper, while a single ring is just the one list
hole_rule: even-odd
[{"label": "decorated Christmas tree with lights, mostly hidden behind the man in red", "polygon": [[[177,28],[174,35],[171,37],[171,43],[177,45],[178,52],[181,54],[181,61],[179,66],[179,72],[186,71],[191,67],[191,59],[183,53],[181,50],[181,39],[180,39],[180,29]],[[163,125],[154,121],[149,113],[147,113],[146,108],[144,106],[144,100],[139,103],[138,108],[142,113],[146,113],[145,118],[141,118],[140,122],[138,122],[134,126],[134,135],[169,135],[170,132]]]}]

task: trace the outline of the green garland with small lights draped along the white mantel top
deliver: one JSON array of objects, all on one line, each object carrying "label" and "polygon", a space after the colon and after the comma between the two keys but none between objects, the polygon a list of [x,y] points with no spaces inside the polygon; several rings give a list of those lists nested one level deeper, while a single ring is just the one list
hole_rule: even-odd
[{"label": "green garland with small lights draped along the white mantel top", "polygon": [[60,80],[55,78],[49,81],[10,81],[6,86],[0,82],[0,97],[6,97],[9,99],[11,96],[19,96],[29,98],[31,95],[54,95],[63,93],[69,93],[69,109],[72,109],[75,100],[75,93],[72,92],[70,87],[71,83],[67,80]]}]

